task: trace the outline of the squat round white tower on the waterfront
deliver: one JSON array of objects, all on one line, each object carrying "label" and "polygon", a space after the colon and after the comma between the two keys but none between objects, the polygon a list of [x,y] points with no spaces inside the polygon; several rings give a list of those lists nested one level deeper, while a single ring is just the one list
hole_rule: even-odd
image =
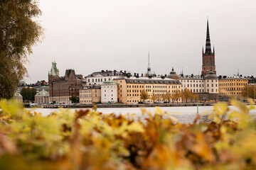
[{"label": "squat round white tower on the waterfront", "polygon": [[101,85],[101,103],[117,103],[117,83],[105,81]]}]

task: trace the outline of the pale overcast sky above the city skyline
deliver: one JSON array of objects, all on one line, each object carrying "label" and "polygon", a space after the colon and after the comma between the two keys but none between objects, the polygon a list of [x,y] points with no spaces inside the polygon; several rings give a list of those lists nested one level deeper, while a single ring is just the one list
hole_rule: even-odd
[{"label": "pale overcast sky above the city skyline", "polygon": [[255,0],[41,0],[45,39],[33,48],[27,83],[48,81],[55,60],[87,76],[102,69],[201,74],[209,18],[218,75],[256,75]]}]

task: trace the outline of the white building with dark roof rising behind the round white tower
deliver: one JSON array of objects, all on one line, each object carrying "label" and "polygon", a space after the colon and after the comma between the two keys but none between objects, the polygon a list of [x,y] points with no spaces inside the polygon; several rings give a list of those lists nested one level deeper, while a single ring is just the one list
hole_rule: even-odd
[{"label": "white building with dark roof rising behind the round white tower", "polygon": [[112,81],[113,79],[124,76],[125,74],[128,74],[128,72],[122,72],[122,70],[120,72],[117,72],[116,70],[102,70],[101,72],[93,72],[85,77],[85,84],[102,85],[104,81]]}]

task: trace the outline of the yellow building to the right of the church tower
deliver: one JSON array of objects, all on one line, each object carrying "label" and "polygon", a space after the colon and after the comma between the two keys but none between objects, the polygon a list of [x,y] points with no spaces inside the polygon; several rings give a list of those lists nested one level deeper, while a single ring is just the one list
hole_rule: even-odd
[{"label": "yellow building to the right of the church tower", "polygon": [[218,81],[220,100],[229,99],[230,96],[240,98],[242,91],[248,85],[248,79],[242,78],[239,75],[224,76]]}]

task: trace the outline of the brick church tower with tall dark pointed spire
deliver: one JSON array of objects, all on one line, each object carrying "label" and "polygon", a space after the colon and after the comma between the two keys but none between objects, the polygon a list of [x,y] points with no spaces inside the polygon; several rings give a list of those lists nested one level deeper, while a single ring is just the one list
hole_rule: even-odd
[{"label": "brick church tower with tall dark pointed spire", "polygon": [[210,31],[209,31],[209,22],[207,19],[207,32],[206,32],[206,51],[202,52],[202,75],[206,76],[208,72],[213,71],[216,74],[215,70],[215,50],[213,47],[213,52],[210,47]]}]

